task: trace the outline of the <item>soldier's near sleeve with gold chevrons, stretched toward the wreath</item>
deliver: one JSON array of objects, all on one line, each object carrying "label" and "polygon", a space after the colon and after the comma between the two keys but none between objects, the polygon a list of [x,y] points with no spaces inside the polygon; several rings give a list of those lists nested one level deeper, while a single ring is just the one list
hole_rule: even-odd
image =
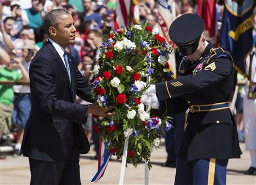
[{"label": "soldier's near sleeve with gold chevrons, stretched toward the wreath", "polygon": [[219,58],[218,61],[210,61],[203,70],[196,74],[180,76],[175,80],[157,83],[156,94],[160,101],[191,94],[196,90],[214,85],[225,79],[232,70],[232,61],[226,58]]}]

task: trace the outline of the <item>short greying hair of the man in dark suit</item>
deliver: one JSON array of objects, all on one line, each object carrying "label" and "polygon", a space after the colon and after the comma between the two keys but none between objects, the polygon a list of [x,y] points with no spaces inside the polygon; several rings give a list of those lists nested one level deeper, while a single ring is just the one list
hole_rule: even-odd
[{"label": "short greying hair of the man in dark suit", "polygon": [[61,22],[61,15],[67,15],[69,12],[63,9],[54,9],[48,12],[44,17],[44,29],[46,30],[47,35],[49,35],[48,29],[49,27],[57,27],[57,25]]}]

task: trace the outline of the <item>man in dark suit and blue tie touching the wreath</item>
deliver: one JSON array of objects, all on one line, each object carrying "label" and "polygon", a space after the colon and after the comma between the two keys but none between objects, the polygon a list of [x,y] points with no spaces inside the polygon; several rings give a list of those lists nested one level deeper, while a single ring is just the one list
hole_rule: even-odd
[{"label": "man in dark suit and blue tie touching the wreath", "polygon": [[91,87],[64,48],[75,41],[68,11],[56,9],[44,18],[49,40],[30,65],[32,108],[21,152],[29,157],[31,184],[81,184],[79,154],[90,146],[81,123],[86,115],[112,116],[111,108],[75,103],[90,100]]}]

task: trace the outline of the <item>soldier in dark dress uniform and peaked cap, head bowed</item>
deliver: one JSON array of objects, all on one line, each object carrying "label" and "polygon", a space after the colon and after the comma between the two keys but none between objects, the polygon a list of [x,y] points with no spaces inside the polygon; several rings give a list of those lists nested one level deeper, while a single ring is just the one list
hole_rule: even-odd
[{"label": "soldier in dark dress uniform and peaked cap, head bowed", "polygon": [[225,184],[228,159],[242,154],[229,109],[234,86],[232,57],[205,39],[204,20],[199,15],[180,16],[171,24],[169,35],[185,56],[180,75],[151,85],[144,93],[160,114],[189,108],[175,184]]}]

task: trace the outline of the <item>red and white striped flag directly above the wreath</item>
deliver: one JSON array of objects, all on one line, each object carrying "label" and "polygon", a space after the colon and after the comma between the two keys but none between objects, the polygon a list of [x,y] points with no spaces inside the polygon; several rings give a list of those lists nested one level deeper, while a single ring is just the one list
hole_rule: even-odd
[{"label": "red and white striped flag directly above the wreath", "polygon": [[114,14],[114,29],[139,24],[139,5],[137,0],[117,0]]}]

